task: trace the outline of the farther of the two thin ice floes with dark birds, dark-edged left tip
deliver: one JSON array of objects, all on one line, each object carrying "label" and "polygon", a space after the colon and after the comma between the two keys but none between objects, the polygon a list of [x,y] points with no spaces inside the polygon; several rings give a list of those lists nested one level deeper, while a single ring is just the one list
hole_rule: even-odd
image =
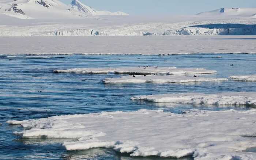
[{"label": "farther of the two thin ice floes with dark birds, dark-edged left tip", "polygon": [[76,74],[134,74],[134,75],[150,75],[150,74],[207,74],[217,73],[217,71],[207,70],[204,68],[176,68],[176,67],[155,67],[155,66],[137,66],[137,67],[121,67],[121,68],[73,68],[67,70],[54,70],[54,73],[76,73]]}]

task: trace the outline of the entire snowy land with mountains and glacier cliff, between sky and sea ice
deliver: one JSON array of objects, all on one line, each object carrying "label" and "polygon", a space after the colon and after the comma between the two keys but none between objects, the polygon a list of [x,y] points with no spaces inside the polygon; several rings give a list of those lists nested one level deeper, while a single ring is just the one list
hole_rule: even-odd
[{"label": "entire snowy land with mountains and glacier cliff, between sky and sea ice", "polygon": [[[222,9],[223,13],[218,9],[197,15],[148,18],[121,11],[97,11],[78,0],[69,6],[56,0],[0,1],[0,15],[30,19],[1,22],[0,36],[256,35],[256,8]],[[233,12],[236,14],[230,14]]]}]

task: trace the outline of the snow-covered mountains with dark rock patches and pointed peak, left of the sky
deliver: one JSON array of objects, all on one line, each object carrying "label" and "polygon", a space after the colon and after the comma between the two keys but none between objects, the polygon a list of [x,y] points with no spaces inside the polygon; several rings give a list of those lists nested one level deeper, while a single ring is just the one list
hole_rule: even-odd
[{"label": "snow-covered mountains with dark rock patches and pointed peak, left of the sky", "polygon": [[59,0],[0,0],[0,14],[20,19],[93,18],[91,15],[127,15],[123,12],[97,11],[73,0],[66,5]]}]

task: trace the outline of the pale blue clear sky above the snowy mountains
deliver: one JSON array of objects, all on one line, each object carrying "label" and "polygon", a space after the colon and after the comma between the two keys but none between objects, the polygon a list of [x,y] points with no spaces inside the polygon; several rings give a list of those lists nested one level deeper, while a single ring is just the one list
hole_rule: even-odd
[{"label": "pale blue clear sky above the snowy mountains", "polygon": [[[71,0],[61,0],[66,4]],[[130,15],[188,15],[219,8],[256,7],[256,0],[80,0],[97,10]]]}]

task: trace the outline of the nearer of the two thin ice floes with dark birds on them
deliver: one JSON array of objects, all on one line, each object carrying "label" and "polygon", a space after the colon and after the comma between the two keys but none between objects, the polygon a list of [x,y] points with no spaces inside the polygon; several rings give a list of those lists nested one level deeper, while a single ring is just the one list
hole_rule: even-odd
[{"label": "nearer of the two thin ice floes with dark birds on them", "polygon": [[107,78],[104,83],[189,83],[203,81],[225,81],[226,78],[209,78],[193,76],[123,76],[119,78]]}]

